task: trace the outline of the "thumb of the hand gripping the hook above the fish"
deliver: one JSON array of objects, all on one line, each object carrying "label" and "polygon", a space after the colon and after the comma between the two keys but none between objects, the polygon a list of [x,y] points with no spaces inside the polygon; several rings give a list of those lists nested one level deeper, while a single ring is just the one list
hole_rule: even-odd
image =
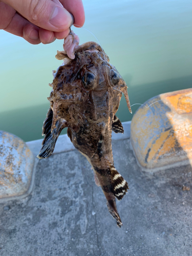
[{"label": "thumb of the hand gripping the hook above the fish", "polygon": [[34,25],[60,32],[67,30],[71,23],[71,14],[59,0],[3,0]]}]

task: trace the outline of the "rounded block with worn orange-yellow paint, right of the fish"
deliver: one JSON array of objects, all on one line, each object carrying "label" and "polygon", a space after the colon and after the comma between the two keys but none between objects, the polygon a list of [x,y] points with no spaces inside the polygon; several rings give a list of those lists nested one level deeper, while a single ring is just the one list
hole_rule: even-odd
[{"label": "rounded block with worn orange-yellow paint, right of the fish", "polygon": [[131,144],[142,169],[192,163],[192,89],[147,100],[131,122]]}]

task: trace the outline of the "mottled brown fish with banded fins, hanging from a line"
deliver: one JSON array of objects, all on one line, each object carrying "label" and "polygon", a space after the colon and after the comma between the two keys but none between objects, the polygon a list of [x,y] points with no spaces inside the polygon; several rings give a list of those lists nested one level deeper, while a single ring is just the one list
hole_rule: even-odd
[{"label": "mottled brown fish with banded fins, hanging from a line", "polygon": [[122,94],[132,113],[126,83],[96,42],[75,47],[73,58],[66,51],[57,51],[56,58],[63,63],[53,72],[50,108],[42,127],[45,138],[37,157],[50,157],[60,132],[68,127],[68,137],[90,162],[109,212],[121,227],[116,199],[121,200],[129,186],[114,166],[112,131],[124,132],[116,116]]}]

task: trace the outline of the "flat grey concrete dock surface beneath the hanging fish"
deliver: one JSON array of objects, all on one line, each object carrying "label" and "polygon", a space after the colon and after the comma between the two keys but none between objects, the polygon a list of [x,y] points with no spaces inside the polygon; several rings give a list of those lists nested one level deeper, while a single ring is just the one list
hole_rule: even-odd
[{"label": "flat grey concrete dock surface beneath the hanging fish", "polygon": [[38,160],[30,196],[0,203],[0,255],[192,255],[191,166],[141,172],[130,139],[113,140],[113,153],[130,186],[117,202],[121,228],[87,159],[54,154]]}]

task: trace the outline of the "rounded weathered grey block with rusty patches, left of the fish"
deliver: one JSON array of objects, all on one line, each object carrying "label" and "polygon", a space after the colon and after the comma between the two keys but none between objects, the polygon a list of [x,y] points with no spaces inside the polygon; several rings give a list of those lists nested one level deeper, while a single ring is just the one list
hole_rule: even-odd
[{"label": "rounded weathered grey block with rusty patches, left of the fish", "polygon": [[0,200],[22,196],[30,190],[34,161],[22,139],[0,131]]}]

